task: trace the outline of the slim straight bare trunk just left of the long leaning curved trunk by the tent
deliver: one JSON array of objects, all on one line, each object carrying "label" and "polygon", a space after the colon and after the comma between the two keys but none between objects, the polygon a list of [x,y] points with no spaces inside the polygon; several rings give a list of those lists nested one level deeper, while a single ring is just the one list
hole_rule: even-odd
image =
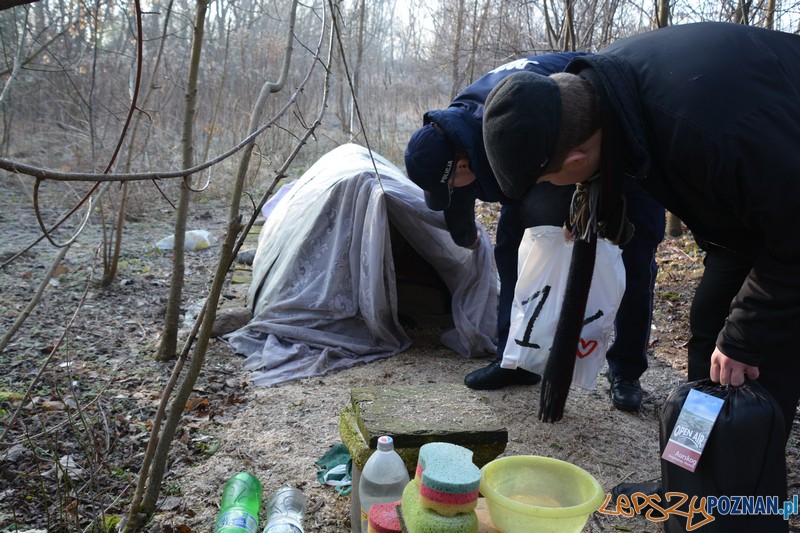
[{"label": "slim straight bare trunk just left of the long leaning curved trunk by the tent", "polygon": [[[192,38],[192,52],[189,59],[189,75],[186,82],[186,108],[183,118],[183,168],[191,168],[194,160],[194,120],[197,114],[197,78],[200,72],[200,55],[203,50],[203,33],[209,0],[197,0],[197,15]],[[169,299],[164,315],[164,332],[161,336],[156,359],[173,359],[178,347],[178,321],[181,310],[181,296],[186,270],[184,244],[186,242],[186,218],[189,215],[189,202],[192,196],[192,178],[187,176],[181,182],[178,210],[175,214],[175,235],[172,244],[172,279],[169,285]]]}]

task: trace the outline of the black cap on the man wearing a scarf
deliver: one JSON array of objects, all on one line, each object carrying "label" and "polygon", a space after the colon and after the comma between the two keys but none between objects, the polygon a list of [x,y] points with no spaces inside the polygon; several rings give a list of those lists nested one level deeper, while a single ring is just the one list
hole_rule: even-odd
[{"label": "black cap on the man wearing a scarf", "polygon": [[486,98],[483,142],[503,194],[519,198],[542,175],[558,143],[561,94],[534,72],[505,77]]}]

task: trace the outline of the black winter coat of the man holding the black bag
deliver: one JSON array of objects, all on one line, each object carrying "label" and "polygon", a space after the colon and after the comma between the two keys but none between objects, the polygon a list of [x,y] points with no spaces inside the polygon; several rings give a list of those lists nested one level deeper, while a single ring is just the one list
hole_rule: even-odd
[{"label": "black winter coat of the man holding the black bag", "polygon": [[[604,111],[604,157],[753,268],[717,340],[758,365],[800,328],[800,37],[673,26],[574,59]],[[611,153],[609,153],[609,151]]]}]

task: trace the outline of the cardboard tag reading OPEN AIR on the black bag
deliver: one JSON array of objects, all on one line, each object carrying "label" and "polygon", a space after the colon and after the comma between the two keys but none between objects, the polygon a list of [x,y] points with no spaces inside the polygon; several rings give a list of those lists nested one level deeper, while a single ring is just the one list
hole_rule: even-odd
[{"label": "cardboard tag reading OPEN AIR on the black bag", "polygon": [[722,398],[690,390],[661,458],[694,472],[723,403]]}]

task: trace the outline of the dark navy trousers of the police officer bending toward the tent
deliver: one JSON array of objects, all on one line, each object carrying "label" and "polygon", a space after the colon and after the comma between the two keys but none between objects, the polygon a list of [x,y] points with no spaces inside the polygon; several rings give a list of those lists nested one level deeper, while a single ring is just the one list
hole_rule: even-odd
[{"label": "dark navy trousers of the police officer bending toward the tent", "polygon": [[[568,221],[574,187],[539,183],[520,200],[504,205],[497,224],[495,261],[500,277],[497,311],[497,360],[503,357],[511,325],[511,305],[517,283],[517,257],[525,228],[561,226]],[[611,369],[638,379],[647,369],[647,344],[653,316],[653,286],[658,271],[655,252],[664,238],[664,208],[632,179],[625,182],[628,218],[635,231],[622,247],[625,294],[617,312],[614,344],[607,359]]]}]

